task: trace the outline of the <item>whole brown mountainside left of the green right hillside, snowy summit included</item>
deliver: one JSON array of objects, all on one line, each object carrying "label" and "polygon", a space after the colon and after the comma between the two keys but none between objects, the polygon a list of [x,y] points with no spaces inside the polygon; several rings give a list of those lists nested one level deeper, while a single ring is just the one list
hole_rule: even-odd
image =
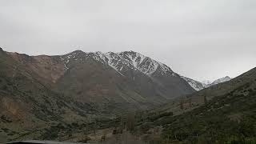
[{"label": "whole brown mountainside left of the green right hillside, snowy summit included", "polygon": [[54,123],[146,110],[193,92],[170,67],[133,51],[29,56],[1,49],[0,140],[39,138]]}]

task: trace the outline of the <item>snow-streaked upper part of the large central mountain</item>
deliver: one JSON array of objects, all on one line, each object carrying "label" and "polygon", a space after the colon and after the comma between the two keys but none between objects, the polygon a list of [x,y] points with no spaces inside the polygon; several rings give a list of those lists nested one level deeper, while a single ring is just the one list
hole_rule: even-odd
[{"label": "snow-streaked upper part of the large central mountain", "polygon": [[[70,59],[78,59],[79,54],[83,53],[84,57],[93,58],[95,61],[102,62],[103,64],[111,66],[114,70],[117,70],[118,73],[122,74],[124,67],[128,67],[132,70],[139,70],[143,74],[151,75],[158,71],[160,74],[171,74],[176,76],[169,66],[155,61],[152,58],[146,57],[143,54],[139,54],[134,51],[123,51],[119,53],[107,52],[102,53],[100,51],[94,53],[84,53],[81,50],[76,50],[70,54],[62,56],[62,61],[68,67]],[[80,57],[79,57],[80,58]]]}]

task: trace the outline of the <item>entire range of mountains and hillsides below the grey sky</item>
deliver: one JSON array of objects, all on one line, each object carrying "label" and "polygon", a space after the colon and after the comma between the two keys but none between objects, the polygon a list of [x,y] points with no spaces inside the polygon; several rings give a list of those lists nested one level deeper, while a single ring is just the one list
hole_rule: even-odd
[{"label": "entire range of mountains and hillsides below the grey sky", "polygon": [[249,125],[239,122],[254,123],[255,74],[254,68],[237,78],[198,82],[134,51],[30,56],[0,49],[0,142],[76,142],[75,134],[92,133],[94,122],[112,130],[120,115],[138,110],[134,134],[140,136],[154,138],[150,130],[160,127],[168,141],[219,138],[213,135],[218,127],[233,125],[247,134]]}]

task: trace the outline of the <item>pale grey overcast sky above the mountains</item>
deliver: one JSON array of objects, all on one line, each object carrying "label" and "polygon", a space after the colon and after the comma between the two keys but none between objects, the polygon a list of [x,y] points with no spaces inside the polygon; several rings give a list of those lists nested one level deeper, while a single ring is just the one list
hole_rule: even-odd
[{"label": "pale grey overcast sky above the mountains", "polygon": [[0,46],[134,50],[197,80],[234,78],[256,66],[256,1],[0,0]]}]

